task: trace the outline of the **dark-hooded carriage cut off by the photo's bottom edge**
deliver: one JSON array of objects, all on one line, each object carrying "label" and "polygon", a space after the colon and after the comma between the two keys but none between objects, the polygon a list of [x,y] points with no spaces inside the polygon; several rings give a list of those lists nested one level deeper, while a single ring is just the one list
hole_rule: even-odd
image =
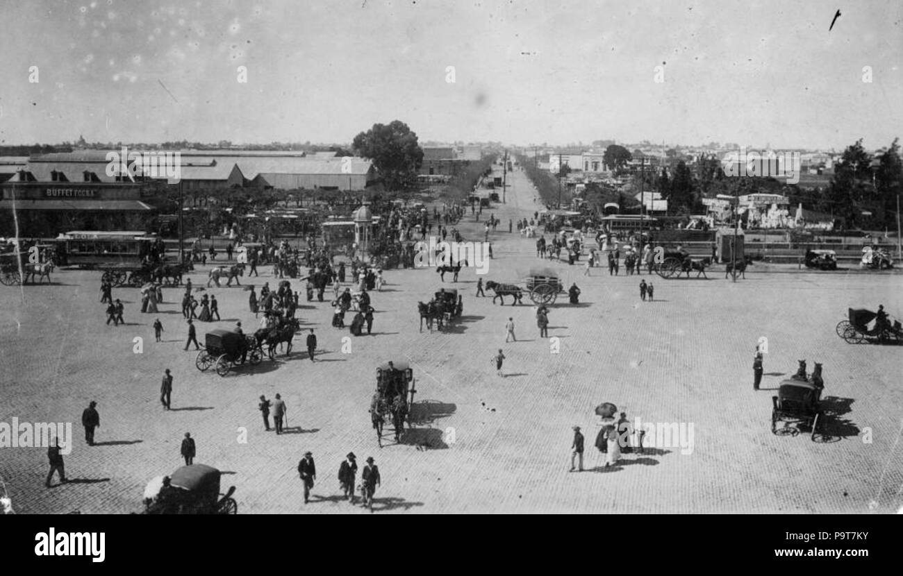
[{"label": "dark-hooded carriage cut off by the photo's bottom edge", "polygon": [[237,514],[235,487],[219,493],[218,469],[204,464],[182,466],[144,488],[144,514]]}]

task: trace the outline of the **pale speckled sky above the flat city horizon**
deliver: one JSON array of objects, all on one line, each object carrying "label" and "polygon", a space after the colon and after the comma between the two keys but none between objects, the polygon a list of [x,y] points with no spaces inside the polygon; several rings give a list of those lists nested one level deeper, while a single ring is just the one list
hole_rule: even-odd
[{"label": "pale speckled sky above the flat city horizon", "polygon": [[522,145],[903,132],[899,0],[3,0],[0,22],[0,144],[349,143],[395,119]]}]

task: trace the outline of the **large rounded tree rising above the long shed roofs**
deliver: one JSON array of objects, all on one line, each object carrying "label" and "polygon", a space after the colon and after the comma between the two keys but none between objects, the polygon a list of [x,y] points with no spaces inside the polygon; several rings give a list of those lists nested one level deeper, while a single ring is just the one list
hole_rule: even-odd
[{"label": "large rounded tree rising above the long shed roofs", "polygon": [[373,161],[387,190],[405,190],[414,186],[417,171],[424,163],[424,151],[417,135],[400,120],[388,125],[375,124],[354,137],[356,152]]}]

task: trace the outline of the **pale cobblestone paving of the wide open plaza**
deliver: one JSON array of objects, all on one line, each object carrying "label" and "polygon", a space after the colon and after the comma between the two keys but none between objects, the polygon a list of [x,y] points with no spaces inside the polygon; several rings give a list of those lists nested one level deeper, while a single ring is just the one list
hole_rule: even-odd
[{"label": "pale cobblestone paving of the wide open plaza", "polygon": [[[483,221],[501,219],[490,234],[495,259],[486,280],[524,285],[535,239],[507,233],[509,218],[534,210],[535,190],[524,172],[508,174],[507,204],[459,225],[482,239]],[[901,348],[850,345],[834,326],[849,307],[903,314],[899,274],[797,272],[754,265],[731,283],[723,268],[709,280],[654,276],[655,302],[641,302],[639,278],[611,277],[597,267],[551,264],[566,286],[576,282],[582,304],[566,294],[552,307],[549,340],[538,338],[532,305],[501,307],[476,298],[477,276],[444,285],[464,295],[463,318],[452,330],[418,330],[416,304],[442,285],[433,269],[391,270],[373,294],[373,336],[351,337],[330,327],[329,302],[303,302],[303,330],[320,339],[319,360],[306,358],[300,333],[290,356],[238,367],[227,377],[201,373],[193,347],[183,351],[182,289],[164,289],[159,318],[164,342],[154,343],[154,317],[140,314],[136,289],[115,289],[126,302],[126,325],[104,324],[99,272],[57,271],[53,285],[2,287],[0,422],[72,422],[75,445],[66,456],[70,478],[45,489],[46,450],[0,448],[0,477],[20,513],[84,514],[139,511],[147,480],[182,464],[184,432],[196,439],[197,462],[225,470],[224,488],[237,487],[245,513],[363,513],[340,500],[336,473],[348,451],[372,455],[383,484],[377,513],[461,512],[783,512],[869,513],[903,506],[903,390]],[[191,274],[206,285],[206,268]],[[278,282],[267,267],[258,288]],[[648,276],[644,276],[649,280]],[[303,286],[293,282],[303,293]],[[241,288],[206,290],[219,300],[223,321],[197,323],[198,336],[242,321],[256,327]],[[330,294],[330,291],[327,292]],[[200,295],[199,295],[200,298]],[[175,302],[175,303],[174,303]],[[510,302],[510,299],[508,299]],[[525,302],[528,299],[525,298]],[[517,343],[505,343],[508,316]],[[135,354],[133,339],[144,339]],[[342,353],[348,337],[350,353]],[[768,339],[763,390],[752,390],[752,356]],[[506,377],[491,359],[504,350]],[[824,396],[833,411],[830,442],[806,434],[770,432],[771,395],[796,371],[797,358],[824,364]],[[377,365],[389,359],[414,367],[414,429],[401,444],[377,447],[368,406]],[[158,400],[163,369],[174,377],[172,408]],[[257,397],[281,393],[288,434],[264,432]],[[98,402],[98,446],[84,444],[81,411]],[[633,422],[687,423],[694,450],[664,448],[625,454],[604,469],[593,447],[593,408],[612,402]],[[569,474],[572,430],[586,435],[589,471]],[[247,441],[243,429],[247,429]],[[386,427],[386,432],[389,427]],[[391,436],[391,434],[390,434]],[[318,471],[310,504],[303,504],[295,467],[313,452]],[[358,476],[359,478],[359,476]]]}]

